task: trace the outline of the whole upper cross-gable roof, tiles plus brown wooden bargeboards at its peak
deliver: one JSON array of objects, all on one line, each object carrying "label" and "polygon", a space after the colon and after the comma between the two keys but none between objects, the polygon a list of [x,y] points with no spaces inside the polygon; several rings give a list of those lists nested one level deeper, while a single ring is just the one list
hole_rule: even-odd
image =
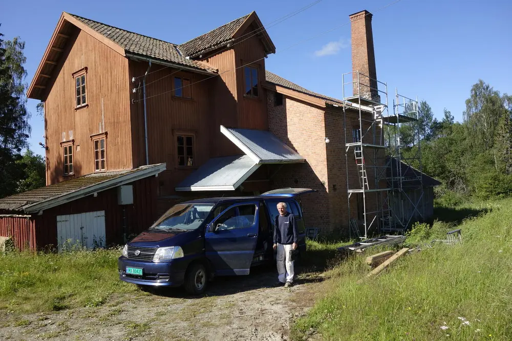
[{"label": "whole upper cross-gable roof, tiles plus brown wooden bargeboards at its peak", "polygon": [[256,12],[251,12],[243,17],[234,19],[221,27],[180,44],[178,48],[185,56],[194,58],[202,53],[221,48],[227,43],[234,41],[234,39],[240,37],[241,33],[243,33],[243,31],[245,31],[253,21],[255,21],[256,26],[258,27],[254,30],[253,35],[258,35],[263,39],[267,53],[275,53],[274,44],[270,40],[270,37],[258,18],[258,15],[256,15]]}]

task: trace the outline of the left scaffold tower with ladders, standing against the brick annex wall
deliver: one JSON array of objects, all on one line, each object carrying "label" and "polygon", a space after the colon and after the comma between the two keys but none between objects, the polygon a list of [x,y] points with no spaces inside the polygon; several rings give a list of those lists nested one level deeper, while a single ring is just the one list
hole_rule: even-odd
[{"label": "left scaffold tower with ladders, standing against the brick annex wall", "polygon": [[[384,143],[383,126],[388,117],[388,86],[359,71],[342,75],[343,81],[343,115],[345,133],[345,165],[347,178],[347,203],[349,234],[352,238],[368,239],[371,230],[381,230],[385,221],[389,220],[390,206],[388,203],[387,163],[386,152],[388,146]],[[352,87],[352,96],[346,96],[345,87]],[[378,90],[378,86],[384,90]],[[384,99],[381,101],[380,99]],[[357,112],[358,127],[352,129],[352,140],[347,134],[347,109]],[[353,115],[353,114],[349,114]],[[350,139],[350,138],[349,138]],[[359,187],[355,187],[349,180],[349,153],[353,151],[355,166],[359,178]],[[352,165],[352,164],[351,164]],[[352,165],[353,167],[353,165]],[[370,186],[367,169],[373,173],[373,184]],[[362,201],[362,224],[364,236],[360,235],[359,225],[351,217],[350,200],[352,195],[360,195]],[[375,198],[373,206],[371,198]],[[372,210],[370,211],[370,207]]]}]

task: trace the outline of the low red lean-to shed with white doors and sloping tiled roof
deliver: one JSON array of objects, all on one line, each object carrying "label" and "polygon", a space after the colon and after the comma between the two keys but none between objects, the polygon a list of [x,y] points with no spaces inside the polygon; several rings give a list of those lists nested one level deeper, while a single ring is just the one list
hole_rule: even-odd
[{"label": "low red lean-to shed with white doors and sloping tiled roof", "polygon": [[0,236],[20,250],[123,243],[155,221],[165,164],[93,173],[0,199]]}]

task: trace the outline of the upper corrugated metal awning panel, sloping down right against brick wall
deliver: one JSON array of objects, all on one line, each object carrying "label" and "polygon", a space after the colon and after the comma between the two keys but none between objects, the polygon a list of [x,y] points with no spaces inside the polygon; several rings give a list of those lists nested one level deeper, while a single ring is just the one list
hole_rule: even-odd
[{"label": "upper corrugated metal awning panel, sloping down right against brick wall", "polygon": [[296,163],[305,159],[269,131],[226,128],[221,132],[257,164]]}]

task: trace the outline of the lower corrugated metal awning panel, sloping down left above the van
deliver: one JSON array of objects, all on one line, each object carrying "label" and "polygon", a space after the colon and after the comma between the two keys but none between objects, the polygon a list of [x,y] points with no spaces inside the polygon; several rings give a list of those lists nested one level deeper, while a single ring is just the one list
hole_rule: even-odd
[{"label": "lower corrugated metal awning panel, sloping down left above the van", "polygon": [[176,191],[234,191],[260,164],[247,155],[212,157],[176,186]]}]

